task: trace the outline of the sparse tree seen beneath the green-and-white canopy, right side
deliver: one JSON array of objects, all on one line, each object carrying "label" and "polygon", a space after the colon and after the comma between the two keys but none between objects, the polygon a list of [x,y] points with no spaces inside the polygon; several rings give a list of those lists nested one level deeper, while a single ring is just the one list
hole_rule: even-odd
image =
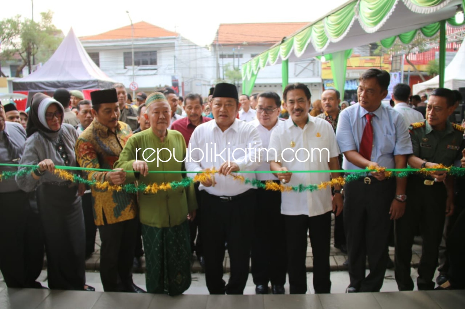
[{"label": "sparse tree seen beneath the green-and-white canopy, right side", "polygon": [[423,74],[417,69],[415,64],[410,61],[408,56],[413,52],[425,52],[429,49],[427,43],[439,42],[439,34],[434,35],[432,38],[425,38],[421,34],[417,34],[410,44],[404,45],[399,40],[388,49],[385,49],[383,45],[379,43],[379,47],[374,52],[376,53],[388,53],[388,54],[405,54],[405,61],[410,64],[413,71],[417,72],[422,81],[425,81]]}]

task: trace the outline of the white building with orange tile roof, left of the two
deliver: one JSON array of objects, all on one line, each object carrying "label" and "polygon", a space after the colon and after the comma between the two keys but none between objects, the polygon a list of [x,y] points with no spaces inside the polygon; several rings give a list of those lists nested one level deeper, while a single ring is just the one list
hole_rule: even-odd
[{"label": "white building with orange tile roof, left of the two", "polygon": [[135,92],[151,93],[159,87],[172,86],[177,79],[179,95],[208,94],[214,72],[208,49],[145,21],[134,23],[133,27],[134,31],[128,25],[81,37],[80,41],[100,69],[123,83],[128,92],[133,80],[139,87]]}]

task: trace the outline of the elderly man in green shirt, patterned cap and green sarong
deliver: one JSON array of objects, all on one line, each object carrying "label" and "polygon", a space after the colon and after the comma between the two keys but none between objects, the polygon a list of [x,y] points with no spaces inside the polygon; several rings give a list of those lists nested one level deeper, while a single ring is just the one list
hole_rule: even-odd
[{"label": "elderly man in green shirt, patterned cap and green sarong", "polygon": [[[182,181],[182,174],[148,171],[184,171],[186,142],[175,130],[168,130],[171,108],[165,96],[154,92],[147,97],[150,129],[126,142],[114,168],[133,170],[126,183],[161,184]],[[197,201],[193,183],[164,190],[139,193],[140,222],[146,254],[146,286],[149,293],[179,295],[191,285],[191,248],[187,220],[195,218]]]}]

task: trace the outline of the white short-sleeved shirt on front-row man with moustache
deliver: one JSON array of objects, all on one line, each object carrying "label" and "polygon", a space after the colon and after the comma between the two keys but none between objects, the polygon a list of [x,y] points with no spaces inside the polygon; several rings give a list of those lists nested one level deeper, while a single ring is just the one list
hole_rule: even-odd
[{"label": "white short-sleeved shirt on front-row man with moustache", "polygon": [[[274,152],[269,151],[270,161],[279,160],[281,165],[287,167],[290,171],[329,170],[329,158],[339,155],[336,136],[331,124],[324,119],[310,115],[308,115],[308,122],[304,129],[300,129],[300,127],[295,125],[291,118],[286,120],[284,125],[274,129],[269,144],[269,149],[272,148],[276,149],[277,156],[273,157]],[[286,150],[283,152],[284,149]],[[297,151],[298,149],[299,151]],[[321,150],[321,153],[319,150]],[[299,162],[297,159],[303,162]],[[292,160],[292,162],[284,160]],[[288,185],[318,185],[328,180],[331,180],[330,173],[293,173]],[[282,193],[282,214],[303,214],[312,217],[329,211],[332,211],[330,187],[313,192]]]}]

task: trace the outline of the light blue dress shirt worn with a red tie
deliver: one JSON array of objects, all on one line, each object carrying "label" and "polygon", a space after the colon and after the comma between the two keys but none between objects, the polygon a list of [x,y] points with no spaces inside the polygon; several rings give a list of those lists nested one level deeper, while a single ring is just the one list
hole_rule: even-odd
[{"label": "light blue dress shirt worn with a red tie", "polygon": [[[366,125],[365,115],[368,111],[356,103],[344,109],[339,115],[336,139],[340,151],[344,153],[349,150],[359,152],[360,141]],[[394,155],[412,154],[412,141],[408,128],[402,115],[390,106],[381,104],[372,112],[373,126],[373,148],[370,161],[378,163],[380,167],[394,168]],[[344,156],[342,168],[361,169]]]}]

